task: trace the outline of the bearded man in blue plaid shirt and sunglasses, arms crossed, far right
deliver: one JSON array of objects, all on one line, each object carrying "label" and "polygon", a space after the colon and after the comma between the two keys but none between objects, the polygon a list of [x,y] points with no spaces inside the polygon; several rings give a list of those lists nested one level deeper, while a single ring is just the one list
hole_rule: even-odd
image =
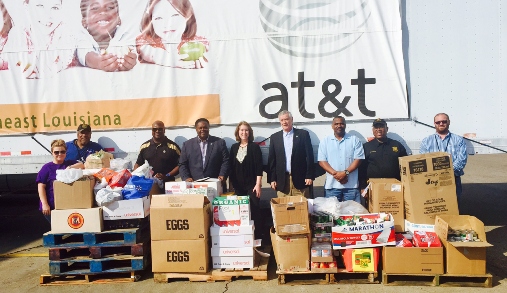
[{"label": "bearded man in blue plaid shirt and sunglasses, arms crossed, far right", "polygon": [[449,115],[439,113],[433,118],[435,130],[437,133],[425,138],[419,150],[419,153],[429,153],[443,151],[450,153],[452,156],[452,167],[454,169],[454,179],[456,181],[456,194],[458,204],[461,198],[461,175],[465,174],[463,169],[466,165],[468,157],[466,153],[466,144],[462,137],[449,132]]}]

